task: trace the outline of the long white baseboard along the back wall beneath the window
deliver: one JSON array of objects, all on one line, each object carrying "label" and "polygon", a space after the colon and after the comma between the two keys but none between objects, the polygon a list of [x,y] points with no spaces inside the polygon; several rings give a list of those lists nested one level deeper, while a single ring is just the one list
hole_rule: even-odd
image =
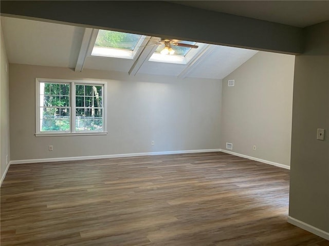
[{"label": "long white baseboard along the back wall beneath the window", "polygon": [[91,159],[145,156],[145,155],[189,154],[189,153],[220,152],[220,151],[221,149],[206,149],[206,150],[178,150],[178,151],[129,153],[129,154],[114,154],[114,155],[75,156],[75,157],[61,157],[61,158],[11,160],[10,164],[40,163],[40,162],[69,161],[69,160],[91,160]]}]

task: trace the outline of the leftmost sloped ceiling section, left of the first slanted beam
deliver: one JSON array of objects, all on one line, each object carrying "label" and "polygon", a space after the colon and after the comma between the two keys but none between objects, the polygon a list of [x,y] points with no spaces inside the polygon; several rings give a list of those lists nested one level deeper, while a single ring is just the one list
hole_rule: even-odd
[{"label": "leftmost sloped ceiling section, left of the first slanted beam", "polygon": [[9,63],[75,67],[84,28],[1,17]]}]

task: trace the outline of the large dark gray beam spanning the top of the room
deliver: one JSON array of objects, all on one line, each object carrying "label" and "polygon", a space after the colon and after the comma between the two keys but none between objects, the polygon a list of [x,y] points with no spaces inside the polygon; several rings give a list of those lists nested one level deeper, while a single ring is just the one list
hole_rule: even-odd
[{"label": "large dark gray beam spanning the top of the room", "polygon": [[303,28],[166,1],[2,0],[0,7],[3,16],[278,53],[304,51]]}]

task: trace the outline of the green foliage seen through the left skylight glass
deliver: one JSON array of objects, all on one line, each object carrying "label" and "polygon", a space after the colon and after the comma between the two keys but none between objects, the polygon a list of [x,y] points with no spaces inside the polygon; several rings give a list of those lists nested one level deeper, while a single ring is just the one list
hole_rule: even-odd
[{"label": "green foliage seen through the left skylight glass", "polygon": [[134,50],[141,35],[99,30],[95,46]]}]

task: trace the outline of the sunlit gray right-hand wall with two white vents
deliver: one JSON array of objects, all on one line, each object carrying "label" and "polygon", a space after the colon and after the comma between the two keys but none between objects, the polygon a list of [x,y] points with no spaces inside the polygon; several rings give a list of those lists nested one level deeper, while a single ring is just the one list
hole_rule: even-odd
[{"label": "sunlit gray right-hand wall with two white vents", "polygon": [[221,149],[290,166],[294,61],[260,51],[223,79]]}]

